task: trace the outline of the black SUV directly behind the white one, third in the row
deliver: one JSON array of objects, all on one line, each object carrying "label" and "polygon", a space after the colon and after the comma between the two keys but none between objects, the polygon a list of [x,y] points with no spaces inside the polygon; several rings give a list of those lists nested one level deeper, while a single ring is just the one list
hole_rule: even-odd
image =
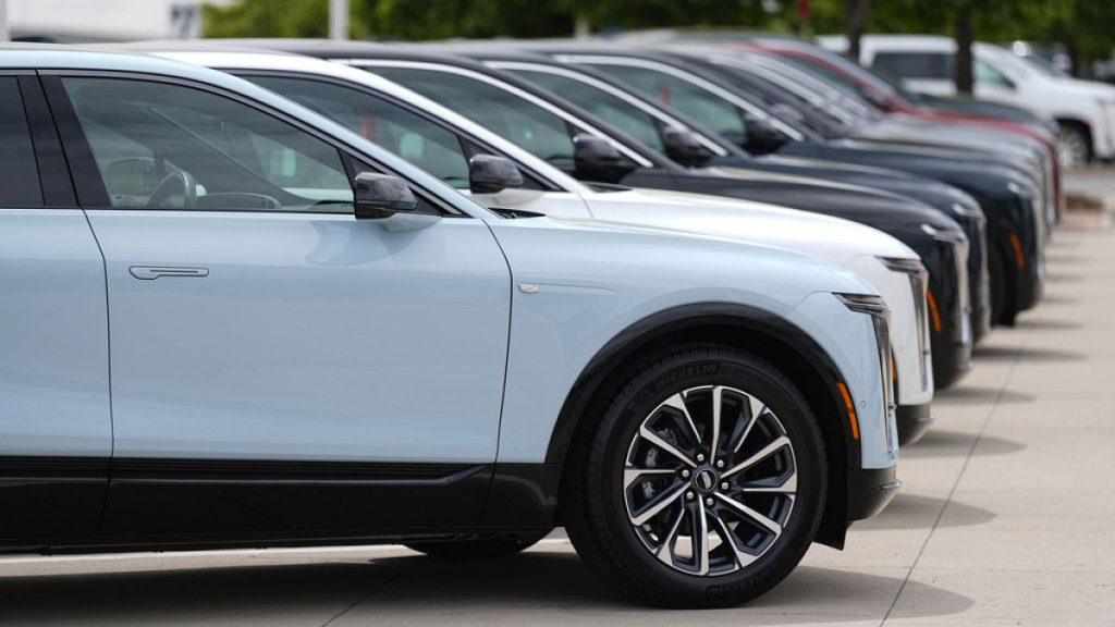
[{"label": "black SUV directly behind the white one, third in the row", "polygon": [[[938,387],[948,386],[969,367],[972,334],[967,288],[967,238],[954,221],[923,203],[888,192],[802,176],[685,168],[561,97],[459,56],[417,47],[361,42],[241,40],[237,44],[326,58],[386,76],[474,122],[487,125],[543,158],[549,156],[550,146],[539,146],[535,141],[524,143],[523,124],[531,115],[544,116],[546,124],[555,128],[560,126],[561,133],[568,133],[562,142],[570,149],[572,135],[585,133],[607,138],[620,152],[619,167],[584,171],[579,168],[572,155],[551,161],[580,180],[768,202],[880,229],[918,252],[929,269],[932,299],[939,311],[935,319],[941,322],[940,327],[934,326],[932,337],[934,383]],[[413,76],[400,76],[414,71],[418,73],[416,80],[411,80]],[[447,94],[446,89],[454,90],[454,94]],[[526,114],[521,123],[514,125],[502,122],[507,119],[505,114],[492,112],[496,110],[493,108],[496,102],[504,98],[514,103],[510,105],[512,107],[527,107],[536,114]]]}]

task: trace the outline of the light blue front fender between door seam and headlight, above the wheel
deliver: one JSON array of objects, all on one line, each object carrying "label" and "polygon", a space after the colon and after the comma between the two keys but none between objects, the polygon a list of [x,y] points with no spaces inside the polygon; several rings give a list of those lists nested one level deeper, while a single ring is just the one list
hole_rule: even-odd
[{"label": "light blue front fender between door seam and headlight, above the wheel", "polygon": [[[834,303],[827,292],[875,293],[846,270],[758,244],[552,219],[494,223],[493,232],[515,283],[540,287],[537,293],[515,293],[501,462],[545,459],[578,376],[611,338],[642,318],[692,302],[745,303],[788,317],[815,292]],[[862,324],[870,332],[862,314],[830,314],[832,325]],[[864,343],[869,353],[875,346],[873,336],[826,332],[816,339],[826,350],[850,355],[856,350],[852,343]],[[870,386],[870,373],[878,373],[870,361],[845,359],[841,366],[852,370],[856,385]]]}]

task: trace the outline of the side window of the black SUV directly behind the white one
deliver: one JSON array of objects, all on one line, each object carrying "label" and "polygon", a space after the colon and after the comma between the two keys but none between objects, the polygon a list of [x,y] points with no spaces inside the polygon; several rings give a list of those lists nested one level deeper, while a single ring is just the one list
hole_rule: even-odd
[{"label": "side window of the black SUV directly behind the white one", "polygon": [[561,117],[482,80],[429,69],[366,68],[418,91],[559,167],[573,163],[573,134]]}]

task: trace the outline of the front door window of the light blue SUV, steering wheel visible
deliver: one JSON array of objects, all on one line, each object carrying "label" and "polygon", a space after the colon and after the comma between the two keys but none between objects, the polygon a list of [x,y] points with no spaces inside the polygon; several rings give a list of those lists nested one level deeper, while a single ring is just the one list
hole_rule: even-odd
[{"label": "front door window of the light blue SUV, steering wheel visible", "polygon": [[350,213],[340,153],[201,89],[64,78],[114,208]]}]

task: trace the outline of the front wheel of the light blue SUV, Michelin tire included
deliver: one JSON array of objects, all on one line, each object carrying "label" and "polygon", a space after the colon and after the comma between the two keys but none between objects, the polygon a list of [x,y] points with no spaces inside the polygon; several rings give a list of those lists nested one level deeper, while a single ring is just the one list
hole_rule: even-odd
[{"label": "front wheel of the light blue SUV, Michelin tire included", "polygon": [[[673,608],[738,605],[789,575],[816,534],[827,493],[821,432],[794,385],[748,353],[691,345],[640,359],[610,389],[618,392],[585,416],[562,482],[565,528],[588,567],[628,596]],[[714,461],[699,455],[712,448],[717,394],[727,413]],[[688,461],[648,437],[676,444]],[[745,485],[767,491],[744,495]],[[692,548],[699,532],[685,536],[701,520],[708,551]]]}]

